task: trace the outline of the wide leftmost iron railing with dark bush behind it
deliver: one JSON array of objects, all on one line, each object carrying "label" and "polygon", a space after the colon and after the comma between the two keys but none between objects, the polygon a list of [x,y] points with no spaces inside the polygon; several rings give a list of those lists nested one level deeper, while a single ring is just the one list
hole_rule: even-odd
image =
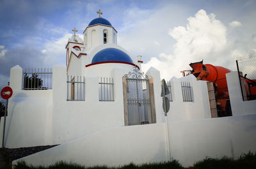
[{"label": "wide leftmost iron railing with dark bush behind it", "polygon": [[52,89],[52,69],[31,68],[23,72],[23,90],[47,90]]}]

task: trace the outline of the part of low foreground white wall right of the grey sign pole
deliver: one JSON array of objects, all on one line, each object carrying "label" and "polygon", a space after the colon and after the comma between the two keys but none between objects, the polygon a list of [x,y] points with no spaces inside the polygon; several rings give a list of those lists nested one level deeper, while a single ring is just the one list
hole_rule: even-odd
[{"label": "part of low foreground white wall right of the grey sign pole", "polygon": [[256,151],[256,114],[169,122],[171,157],[183,166]]}]

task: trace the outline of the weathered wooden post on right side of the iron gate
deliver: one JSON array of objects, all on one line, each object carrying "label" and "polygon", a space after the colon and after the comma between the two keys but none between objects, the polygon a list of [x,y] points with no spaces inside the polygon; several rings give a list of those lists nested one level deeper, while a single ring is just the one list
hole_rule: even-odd
[{"label": "weathered wooden post on right side of the iron gate", "polygon": [[154,96],[154,79],[148,80],[149,99],[150,99],[150,112],[152,123],[156,123],[156,107],[155,107],[155,96]]}]

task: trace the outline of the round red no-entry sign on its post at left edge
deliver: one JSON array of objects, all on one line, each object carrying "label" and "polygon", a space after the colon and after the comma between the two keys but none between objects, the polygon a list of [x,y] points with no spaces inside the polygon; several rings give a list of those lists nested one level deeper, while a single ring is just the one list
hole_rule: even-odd
[{"label": "round red no-entry sign on its post at left edge", "polygon": [[3,141],[2,147],[4,148],[4,135],[5,135],[5,123],[6,123],[6,115],[7,115],[7,107],[8,107],[8,99],[12,97],[12,88],[11,87],[4,87],[1,91],[1,97],[6,99],[5,101],[5,111],[4,111],[4,129],[3,129]]}]

